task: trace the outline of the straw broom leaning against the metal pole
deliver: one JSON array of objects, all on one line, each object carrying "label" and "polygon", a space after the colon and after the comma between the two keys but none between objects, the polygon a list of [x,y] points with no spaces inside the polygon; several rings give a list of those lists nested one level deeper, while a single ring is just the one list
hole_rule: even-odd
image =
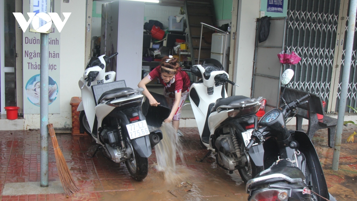
[{"label": "straw broom leaning against the metal pole", "polygon": [[53,148],[55,151],[55,157],[56,157],[56,164],[57,164],[57,170],[58,174],[61,179],[62,186],[67,193],[67,195],[72,195],[75,192],[79,191],[79,188],[76,186],[73,177],[71,175],[71,172],[69,171],[69,168],[67,166],[65,157],[62,154],[61,149],[58,146],[57,138],[56,138],[56,133],[55,129],[53,128],[53,124],[48,124],[48,131],[51,136]]}]

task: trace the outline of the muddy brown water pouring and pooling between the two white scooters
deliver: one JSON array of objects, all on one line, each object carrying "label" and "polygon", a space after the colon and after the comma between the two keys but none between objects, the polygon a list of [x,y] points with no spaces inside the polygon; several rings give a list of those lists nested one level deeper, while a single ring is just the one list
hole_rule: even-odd
[{"label": "muddy brown water pouring and pooling between the two white scooters", "polygon": [[131,181],[134,191],[106,195],[105,200],[115,199],[119,194],[121,200],[247,199],[238,171],[228,174],[217,167],[213,155],[204,162],[196,162],[196,156],[203,157],[207,149],[201,147],[195,129],[184,129],[181,137],[177,137],[171,125],[161,129],[168,136],[149,158],[148,176],[141,182]]}]

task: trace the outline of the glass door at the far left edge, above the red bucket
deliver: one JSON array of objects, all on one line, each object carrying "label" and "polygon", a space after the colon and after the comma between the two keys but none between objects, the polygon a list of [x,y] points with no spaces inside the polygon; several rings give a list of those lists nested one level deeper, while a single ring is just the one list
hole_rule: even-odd
[{"label": "glass door at the far left edge, above the red bucket", "polygon": [[0,0],[0,104],[4,107],[16,106],[16,23],[15,1]]}]

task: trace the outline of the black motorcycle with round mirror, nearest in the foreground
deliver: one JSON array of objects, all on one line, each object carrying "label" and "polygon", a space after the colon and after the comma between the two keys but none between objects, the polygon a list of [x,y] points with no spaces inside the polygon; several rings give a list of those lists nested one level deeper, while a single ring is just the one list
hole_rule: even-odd
[{"label": "black motorcycle with round mirror, nearest in the foreground", "polygon": [[[282,74],[282,84],[290,82],[294,72]],[[310,95],[272,109],[258,122],[246,150],[255,143],[263,143],[264,168],[247,182],[248,200],[335,200],[328,193],[320,160],[310,138],[302,131],[288,131],[286,119],[297,106],[307,103]]]}]

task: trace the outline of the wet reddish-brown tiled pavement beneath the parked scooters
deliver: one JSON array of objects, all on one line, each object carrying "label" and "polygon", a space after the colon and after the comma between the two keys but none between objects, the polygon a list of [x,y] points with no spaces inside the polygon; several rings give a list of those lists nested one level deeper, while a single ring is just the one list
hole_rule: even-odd
[{"label": "wet reddish-brown tiled pavement beneath the parked scooters", "polygon": [[[293,127],[291,127],[292,129]],[[106,160],[100,153],[94,158],[87,154],[96,149],[89,136],[57,134],[60,148],[80,192],[71,197],[65,194],[2,196],[2,200],[246,200],[245,184],[235,171],[228,174],[217,168],[213,158],[202,163],[207,150],[199,143],[197,128],[181,128],[187,170],[190,178],[167,183],[155,169],[156,157],[149,158],[148,176],[134,181],[124,164]],[[347,137],[357,130],[345,128],[342,137],[340,170],[331,171],[333,149],[327,147],[327,129],[313,138],[323,165],[327,185],[337,200],[357,200],[357,150],[355,143],[346,143]],[[50,140],[50,139],[49,139]],[[0,192],[5,183],[40,181],[39,131],[0,131]],[[59,181],[51,140],[49,141],[49,181]],[[180,185],[181,182],[185,182]],[[170,192],[169,192],[170,191]]]}]

